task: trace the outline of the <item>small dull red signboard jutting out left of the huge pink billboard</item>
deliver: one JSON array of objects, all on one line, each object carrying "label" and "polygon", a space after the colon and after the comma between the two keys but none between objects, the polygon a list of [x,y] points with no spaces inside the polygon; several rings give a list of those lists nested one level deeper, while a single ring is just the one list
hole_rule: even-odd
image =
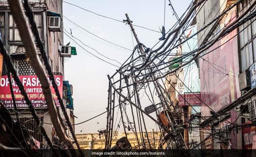
[{"label": "small dull red signboard jutting out left of the huge pink billboard", "polygon": [[184,93],[182,95],[179,94],[179,106],[200,106],[201,105],[201,94],[195,93],[195,94],[187,94]]}]

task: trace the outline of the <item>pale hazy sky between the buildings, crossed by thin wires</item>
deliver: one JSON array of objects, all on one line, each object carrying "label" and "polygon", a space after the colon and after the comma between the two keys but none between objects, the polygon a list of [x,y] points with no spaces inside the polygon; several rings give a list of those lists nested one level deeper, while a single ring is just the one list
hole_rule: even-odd
[{"label": "pale hazy sky between the buildings, crossed by thin wires", "polygon": [[[169,6],[169,0],[65,0],[65,2],[121,21],[126,19],[125,14],[128,13],[130,20],[133,22],[132,24],[156,31],[160,31],[163,25],[165,25],[166,30],[169,30],[177,21],[173,15],[173,10]],[[69,83],[73,86],[74,115],[78,117],[75,119],[76,124],[106,111],[108,104],[107,75],[113,75],[116,69],[118,69],[93,55],[116,66],[121,66],[132,53],[132,51],[127,49],[133,49],[137,43],[128,24],[95,15],[65,2],[63,2],[63,16],[66,17],[63,18],[64,29],[68,33],[72,32],[73,37],[69,35],[70,38],[81,40],[81,42],[76,40],[76,43],[64,34],[64,44],[70,42],[70,46],[76,47],[77,51],[76,56],[65,58],[64,64],[64,80],[69,80]],[[181,16],[186,11],[191,0],[171,0],[171,3],[176,13]],[[95,37],[72,24],[67,18],[88,32],[127,49]],[[158,38],[161,37],[161,33],[155,31],[141,27],[134,27],[134,29],[139,41],[146,47],[154,46],[159,41]],[[113,60],[109,60],[99,53]],[[141,105],[144,109],[150,104],[148,104],[146,98],[142,98]],[[116,109],[118,110],[118,108]],[[152,114],[151,116],[156,119],[156,115]],[[105,113],[93,120],[76,125],[75,132],[98,133],[97,130],[106,128],[106,117],[107,114]],[[157,130],[155,122],[147,116],[144,117],[147,130]],[[132,119],[132,116],[129,118]],[[122,127],[119,129],[119,132],[123,132]]]}]

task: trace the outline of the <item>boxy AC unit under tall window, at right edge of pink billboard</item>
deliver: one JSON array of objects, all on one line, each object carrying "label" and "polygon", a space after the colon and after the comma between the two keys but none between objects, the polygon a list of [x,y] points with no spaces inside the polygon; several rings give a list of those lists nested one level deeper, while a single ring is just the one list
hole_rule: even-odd
[{"label": "boxy AC unit under tall window, at right edge of pink billboard", "polygon": [[250,71],[249,69],[243,71],[238,75],[240,91],[250,89]]}]

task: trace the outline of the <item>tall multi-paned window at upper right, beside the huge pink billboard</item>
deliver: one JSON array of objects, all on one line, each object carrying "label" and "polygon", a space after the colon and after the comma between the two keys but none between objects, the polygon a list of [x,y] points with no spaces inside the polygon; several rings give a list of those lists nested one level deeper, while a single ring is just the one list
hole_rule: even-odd
[{"label": "tall multi-paned window at upper right, beside the huge pink billboard", "polygon": [[[241,4],[239,5],[239,10],[241,11],[239,15],[243,14],[243,12],[247,10],[251,4],[252,1],[243,0],[243,2],[241,2]],[[254,11],[254,9],[251,10],[247,15]],[[255,17],[239,27],[240,31],[244,29],[239,34],[241,71],[245,71],[254,62],[256,62],[256,21],[250,24],[254,19]]]}]

